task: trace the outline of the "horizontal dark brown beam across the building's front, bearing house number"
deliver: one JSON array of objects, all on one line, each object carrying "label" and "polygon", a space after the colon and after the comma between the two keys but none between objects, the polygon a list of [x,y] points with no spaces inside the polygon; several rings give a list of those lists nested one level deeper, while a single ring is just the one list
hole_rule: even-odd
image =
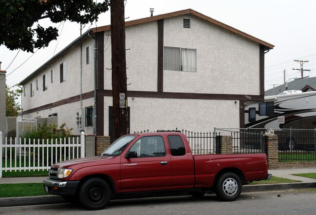
[{"label": "horizontal dark brown beam across the building's front, bearing house number", "polygon": [[[102,96],[112,97],[112,90],[99,92]],[[263,101],[264,96],[259,95],[238,95],[238,94],[196,94],[196,93],[168,93],[148,91],[128,91],[128,97],[139,98],[180,98],[180,99],[214,99],[214,100],[245,100]]]}]

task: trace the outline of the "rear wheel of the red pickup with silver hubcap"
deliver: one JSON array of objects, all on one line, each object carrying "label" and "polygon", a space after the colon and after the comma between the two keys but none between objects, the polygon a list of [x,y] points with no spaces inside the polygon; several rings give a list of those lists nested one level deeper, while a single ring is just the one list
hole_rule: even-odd
[{"label": "rear wheel of the red pickup with silver hubcap", "polygon": [[224,173],[215,184],[215,193],[223,201],[235,201],[242,193],[241,179],[235,173]]}]

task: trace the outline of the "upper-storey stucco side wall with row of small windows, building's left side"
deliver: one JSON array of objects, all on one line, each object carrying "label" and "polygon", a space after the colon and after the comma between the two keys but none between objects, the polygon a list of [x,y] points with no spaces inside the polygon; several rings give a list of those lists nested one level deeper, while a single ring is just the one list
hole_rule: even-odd
[{"label": "upper-storey stucco side wall with row of small windows, building's left side", "polygon": [[[94,62],[86,64],[86,47],[93,47],[93,39],[87,39],[82,43],[82,93],[93,91],[93,65]],[[93,48],[92,48],[93,50]],[[67,64],[66,80],[60,83],[60,64]],[[53,73],[53,83],[51,82],[51,70]],[[43,91],[43,75],[47,74],[47,90]],[[38,90],[36,80],[38,79]],[[34,96],[30,96],[30,85],[34,83]],[[26,87],[26,95],[22,96],[23,110],[29,110],[38,106],[59,101],[61,99],[80,95],[80,45],[75,46],[65,55],[56,59],[50,66],[42,69],[38,75],[28,80],[23,85]],[[55,113],[55,112],[53,112]],[[47,117],[47,116],[46,116]]]}]

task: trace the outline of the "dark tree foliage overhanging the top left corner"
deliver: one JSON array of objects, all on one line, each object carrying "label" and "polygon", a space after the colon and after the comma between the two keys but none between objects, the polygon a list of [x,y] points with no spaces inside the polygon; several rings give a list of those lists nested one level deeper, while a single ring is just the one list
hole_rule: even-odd
[{"label": "dark tree foliage overhanging the top left corner", "polygon": [[37,23],[38,20],[49,18],[54,23],[65,20],[92,23],[109,10],[109,5],[110,0],[102,3],[93,0],[0,0],[0,45],[4,44],[11,50],[33,52],[34,48],[48,46],[58,36],[56,28],[44,28]]}]

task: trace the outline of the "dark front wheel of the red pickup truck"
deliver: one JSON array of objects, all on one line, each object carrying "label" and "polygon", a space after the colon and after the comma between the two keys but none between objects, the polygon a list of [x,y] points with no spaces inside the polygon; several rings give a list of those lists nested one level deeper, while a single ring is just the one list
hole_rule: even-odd
[{"label": "dark front wheel of the red pickup truck", "polygon": [[80,204],[88,210],[103,209],[109,203],[110,198],[110,186],[101,178],[94,177],[86,180],[79,190]]}]

